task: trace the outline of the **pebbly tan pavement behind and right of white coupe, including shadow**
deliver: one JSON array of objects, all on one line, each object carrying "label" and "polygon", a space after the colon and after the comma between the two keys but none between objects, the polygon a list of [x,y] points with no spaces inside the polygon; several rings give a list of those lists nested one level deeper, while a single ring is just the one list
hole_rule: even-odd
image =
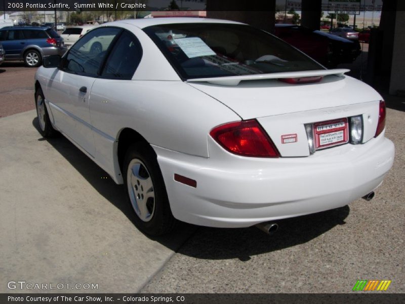
[{"label": "pebbly tan pavement behind and right of white coupe, including shadow", "polygon": [[372,201],[280,220],[273,236],[198,227],[141,292],[349,293],[357,280],[405,292],[405,98],[394,99],[395,162]]}]

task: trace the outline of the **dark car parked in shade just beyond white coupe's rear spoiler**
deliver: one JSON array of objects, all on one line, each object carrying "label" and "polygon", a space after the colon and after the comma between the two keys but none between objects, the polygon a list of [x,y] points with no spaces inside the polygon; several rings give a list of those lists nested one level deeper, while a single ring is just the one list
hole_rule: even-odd
[{"label": "dark car parked in shade just beyond white coupe's rear spoiler", "polygon": [[361,54],[358,41],[350,41],[304,26],[276,24],[275,35],[326,67],[351,63]]}]

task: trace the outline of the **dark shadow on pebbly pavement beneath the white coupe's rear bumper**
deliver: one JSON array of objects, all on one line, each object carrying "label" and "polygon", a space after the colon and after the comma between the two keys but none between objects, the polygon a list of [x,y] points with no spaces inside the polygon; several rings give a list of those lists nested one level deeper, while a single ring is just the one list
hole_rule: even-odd
[{"label": "dark shadow on pebbly pavement beneath the white coupe's rear bumper", "polygon": [[345,224],[349,206],[315,214],[274,221],[278,230],[267,235],[256,227],[215,229],[200,227],[178,251],[201,259],[239,258],[268,253],[309,242],[337,225]]}]

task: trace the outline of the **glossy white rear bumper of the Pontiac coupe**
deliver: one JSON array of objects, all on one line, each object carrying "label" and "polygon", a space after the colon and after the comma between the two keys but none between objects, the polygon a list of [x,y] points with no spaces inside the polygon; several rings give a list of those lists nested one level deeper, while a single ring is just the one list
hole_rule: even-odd
[{"label": "glossy white rear bumper of the Pontiac coupe", "polygon": [[[215,227],[246,227],[345,206],[378,187],[394,159],[394,145],[383,135],[310,157],[279,159],[238,157],[208,141],[210,158],[153,147],[173,215]],[[174,174],[194,179],[196,187],[175,181]]]}]

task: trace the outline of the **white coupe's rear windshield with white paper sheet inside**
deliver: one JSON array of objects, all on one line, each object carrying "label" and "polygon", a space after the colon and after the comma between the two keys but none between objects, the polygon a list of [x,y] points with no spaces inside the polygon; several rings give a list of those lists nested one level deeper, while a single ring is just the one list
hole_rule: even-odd
[{"label": "white coupe's rear windshield with white paper sheet inside", "polygon": [[249,25],[164,24],[144,31],[183,79],[324,69],[287,43]]}]

